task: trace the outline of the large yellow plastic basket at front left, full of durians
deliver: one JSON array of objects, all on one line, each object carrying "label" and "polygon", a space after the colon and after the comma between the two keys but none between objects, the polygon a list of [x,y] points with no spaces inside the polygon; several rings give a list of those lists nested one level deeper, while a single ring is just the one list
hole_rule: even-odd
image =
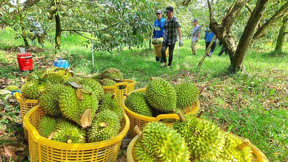
[{"label": "large yellow plastic basket at front left, full of durians", "polygon": [[24,117],[23,124],[29,132],[30,161],[116,161],[122,139],[127,134],[130,125],[127,115],[124,114],[122,129],[117,136],[94,143],[67,144],[49,140],[39,135],[35,127],[43,115],[43,111],[38,105]]}]

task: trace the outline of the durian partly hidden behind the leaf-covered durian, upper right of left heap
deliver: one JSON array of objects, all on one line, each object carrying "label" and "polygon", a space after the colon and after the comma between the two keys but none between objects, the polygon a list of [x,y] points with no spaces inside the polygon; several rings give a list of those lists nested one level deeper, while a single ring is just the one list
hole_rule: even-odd
[{"label": "durian partly hidden behind the leaf-covered durian, upper right of left heap", "polygon": [[86,89],[91,89],[97,100],[100,100],[103,96],[103,88],[100,83],[92,78],[82,78],[78,82]]}]

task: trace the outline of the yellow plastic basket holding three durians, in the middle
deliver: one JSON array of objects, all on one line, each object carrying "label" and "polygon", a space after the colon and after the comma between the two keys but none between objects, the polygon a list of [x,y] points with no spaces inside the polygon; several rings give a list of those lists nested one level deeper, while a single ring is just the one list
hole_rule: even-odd
[{"label": "yellow plastic basket holding three durians, in the middle", "polygon": [[[146,88],[134,90],[134,92],[137,92],[137,91],[145,92]],[[179,119],[179,116],[177,114],[161,114],[161,115],[158,115],[157,117],[148,117],[148,116],[134,113],[133,111],[129,110],[126,107],[125,100],[126,100],[126,96],[123,98],[121,105],[124,108],[125,113],[127,114],[130,120],[130,129],[129,129],[130,139],[133,139],[137,135],[134,131],[134,128],[136,125],[139,127],[140,130],[142,130],[143,127],[145,127],[146,123],[150,123],[152,121],[159,121],[161,119],[171,119],[171,118],[177,119],[177,120]],[[196,114],[199,111],[199,109],[200,109],[200,102],[199,100],[197,100],[196,104],[193,104],[192,106],[187,107],[184,113]],[[173,125],[173,123],[166,123],[166,125],[171,126]]]}]

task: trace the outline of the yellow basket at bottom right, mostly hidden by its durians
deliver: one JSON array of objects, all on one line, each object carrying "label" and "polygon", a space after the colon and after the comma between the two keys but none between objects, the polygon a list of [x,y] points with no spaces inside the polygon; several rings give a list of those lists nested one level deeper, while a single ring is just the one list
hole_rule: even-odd
[{"label": "yellow basket at bottom right, mostly hidden by its durians", "polygon": [[[237,136],[238,137],[238,136]],[[138,140],[139,136],[135,136],[131,142],[128,145],[127,148],[127,153],[126,153],[126,159],[127,162],[137,162],[134,158],[135,154],[134,154],[134,146]],[[238,137],[240,140],[244,141],[243,138]],[[249,144],[249,146],[251,147],[251,150],[253,152],[253,154],[255,155],[255,161],[256,162],[268,162],[268,159],[266,158],[266,156],[261,152],[261,150],[259,150],[259,148],[257,148],[256,146],[254,146],[253,144]]]}]

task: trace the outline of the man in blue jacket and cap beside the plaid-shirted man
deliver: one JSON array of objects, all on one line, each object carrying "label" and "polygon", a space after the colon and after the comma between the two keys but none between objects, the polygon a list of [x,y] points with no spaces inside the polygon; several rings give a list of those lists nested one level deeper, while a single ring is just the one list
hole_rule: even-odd
[{"label": "man in blue jacket and cap beside the plaid-shirted man", "polygon": [[[158,10],[156,11],[156,16],[157,16],[157,19],[154,21],[154,26],[159,27],[160,30],[154,30],[154,31],[153,31],[153,39],[164,37],[164,30],[165,30],[165,29],[164,29],[165,19],[162,18],[162,11],[161,11],[161,9],[158,9]],[[159,57],[156,57],[156,61],[162,62],[162,59],[159,58]]]}]

